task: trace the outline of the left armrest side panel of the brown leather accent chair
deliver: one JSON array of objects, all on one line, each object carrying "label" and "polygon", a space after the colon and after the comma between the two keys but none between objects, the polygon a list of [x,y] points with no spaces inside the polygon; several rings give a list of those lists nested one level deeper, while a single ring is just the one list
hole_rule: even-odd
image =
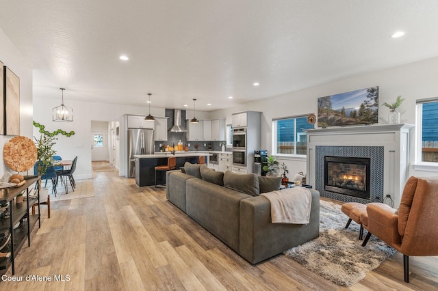
[{"label": "left armrest side panel of the brown leather accent chair", "polygon": [[398,234],[398,215],[396,209],[383,203],[367,204],[368,232],[388,245],[399,248],[401,236]]}]

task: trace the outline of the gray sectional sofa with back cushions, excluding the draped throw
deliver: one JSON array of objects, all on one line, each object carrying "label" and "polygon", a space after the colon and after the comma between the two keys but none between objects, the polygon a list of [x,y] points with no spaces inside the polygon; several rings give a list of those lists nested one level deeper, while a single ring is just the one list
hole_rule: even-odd
[{"label": "gray sectional sofa with back cushions, excluding the draped throw", "polygon": [[248,262],[256,264],[318,237],[318,191],[311,189],[309,224],[271,223],[270,202],[259,191],[272,187],[272,180],[197,167],[166,173],[167,199]]}]

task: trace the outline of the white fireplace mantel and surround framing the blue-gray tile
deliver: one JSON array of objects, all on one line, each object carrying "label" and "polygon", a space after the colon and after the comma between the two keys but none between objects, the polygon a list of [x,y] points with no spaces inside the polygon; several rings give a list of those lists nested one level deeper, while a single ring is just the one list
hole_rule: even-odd
[{"label": "white fireplace mantel and surround framing the blue-gray tile", "polygon": [[316,189],[316,146],[381,146],[384,148],[384,193],[381,194],[383,198],[391,195],[394,208],[398,208],[409,178],[409,132],[413,127],[413,124],[385,124],[306,130],[307,184]]}]

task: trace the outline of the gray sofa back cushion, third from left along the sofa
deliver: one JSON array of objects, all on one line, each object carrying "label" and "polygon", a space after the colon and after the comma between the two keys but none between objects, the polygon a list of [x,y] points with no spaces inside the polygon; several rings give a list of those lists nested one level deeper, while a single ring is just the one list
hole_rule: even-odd
[{"label": "gray sofa back cushion, third from left along the sofa", "polygon": [[260,195],[259,179],[256,174],[235,174],[232,171],[226,171],[224,186],[251,196]]}]

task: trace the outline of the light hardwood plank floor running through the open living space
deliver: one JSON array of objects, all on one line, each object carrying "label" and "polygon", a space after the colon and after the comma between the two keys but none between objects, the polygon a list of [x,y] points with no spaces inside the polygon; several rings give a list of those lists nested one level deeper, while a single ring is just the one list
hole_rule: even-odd
[{"label": "light hardwood plank floor running through the open living space", "polygon": [[[42,206],[42,226],[16,258],[23,281],[0,282],[0,290],[348,290],[285,255],[253,266],[168,202],[165,190],[139,189],[117,171],[93,176],[94,197],[53,202],[50,219]],[[396,253],[349,290],[438,289],[438,257],[410,259],[411,283]]]}]

